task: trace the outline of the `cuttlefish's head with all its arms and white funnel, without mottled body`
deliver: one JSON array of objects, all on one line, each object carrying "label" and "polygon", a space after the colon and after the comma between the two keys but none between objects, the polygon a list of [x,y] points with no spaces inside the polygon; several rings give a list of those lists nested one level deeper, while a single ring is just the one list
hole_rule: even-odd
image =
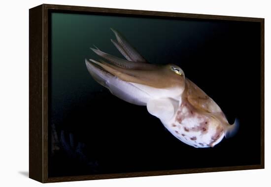
[{"label": "cuttlefish's head with all its arms and white funnel, without mottled body", "polygon": [[[90,75],[118,98],[141,106],[161,120],[173,116],[185,90],[183,70],[174,65],[150,64],[117,31],[111,29],[117,41],[111,39],[115,47],[126,58],[122,59],[91,50],[103,60],[85,60]],[[166,116],[166,117],[165,117]]]}]

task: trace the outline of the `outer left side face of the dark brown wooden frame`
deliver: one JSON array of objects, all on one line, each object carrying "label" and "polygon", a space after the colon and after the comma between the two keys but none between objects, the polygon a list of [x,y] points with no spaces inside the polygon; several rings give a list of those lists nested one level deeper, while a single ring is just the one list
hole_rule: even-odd
[{"label": "outer left side face of the dark brown wooden frame", "polygon": [[29,177],[42,182],[42,5],[29,10]]}]

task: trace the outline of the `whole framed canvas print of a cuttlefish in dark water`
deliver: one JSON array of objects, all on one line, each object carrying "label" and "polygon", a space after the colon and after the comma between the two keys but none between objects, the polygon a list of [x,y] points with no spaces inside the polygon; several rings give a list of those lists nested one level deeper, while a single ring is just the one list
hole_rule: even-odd
[{"label": "whole framed canvas print of a cuttlefish in dark water", "polygon": [[30,9],[30,178],[264,168],[264,19]]}]

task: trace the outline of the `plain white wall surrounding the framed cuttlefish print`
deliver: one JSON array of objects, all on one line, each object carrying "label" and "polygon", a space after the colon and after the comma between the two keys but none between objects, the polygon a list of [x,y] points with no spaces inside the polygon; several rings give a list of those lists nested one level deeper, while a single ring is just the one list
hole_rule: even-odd
[{"label": "plain white wall surrounding the framed cuttlefish print", "polygon": [[[128,179],[46,184],[57,187],[209,186],[267,187],[271,185],[270,104],[271,11],[269,0],[5,0],[0,8],[0,186],[39,186],[28,175],[28,55],[29,12],[41,3],[201,13],[265,18],[265,150],[266,169]],[[249,39],[249,38],[247,38]],[[244,66],[246,66],[244,62]],[[249,65],[248,65],[249,66]],[[253,74],[247,74],[253,78]],[[253,86],[251,87],[253,89]],[[251,98],[253,99],[253,98]],[[234,106],[233,106],[234,107]],[[249,107],[249,101],[248,101]],[[247,142],[253,141],[248,137]],[[242,148],[240,148],[242,149]],[[199,155],[200,156],[200,155]],[[214,155],[215,156],[215,155]],[[234,156],[234,153],[233,155]],[[232,157],[231,156],[231,157]],[[248,155],[249,156],[249,155]],[[229,158],[231,159],[231,158]]]}]

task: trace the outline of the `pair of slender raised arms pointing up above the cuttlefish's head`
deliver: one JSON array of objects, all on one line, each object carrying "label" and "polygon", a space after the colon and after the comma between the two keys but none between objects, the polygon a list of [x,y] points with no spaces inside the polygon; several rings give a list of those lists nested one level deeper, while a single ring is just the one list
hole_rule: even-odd
[{"label": "pair of slender raised arms pointing up above the cuttlefish's head", "polygon": [[117,38],[117,42],[111,39],[115,47],[129,61],[147,63],[147,61],[135,50],[135,48],[119,32],[110,28]]}]

